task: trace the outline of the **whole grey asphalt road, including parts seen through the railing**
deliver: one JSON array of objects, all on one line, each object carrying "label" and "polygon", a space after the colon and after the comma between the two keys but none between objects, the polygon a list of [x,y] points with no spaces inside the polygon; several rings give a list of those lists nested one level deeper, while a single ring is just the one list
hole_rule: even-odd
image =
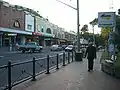
[{"label": "whole grey asphalt road, including parts seen through the railing", "polygon": [[[36,62],[36,73],[45,70],[46,69],[46,62],[47,59],[44,57],[47,57],[47,55],[50,55],[50,67],[56,65],[57,54],[59,55],[59,63],[63,61],[63,53],[64,51],[50,51],[49,47],[46,47],[43,49],[42,52],[35,52],[35,53],[21,53],[21,52],[4,52],[0,53],[1,59],[0,59],[0,66],[7,65],[8,61],[10,60],[13,63],[19,63],[24,61],[32,60],[33,57],[35,57],[37,60]],[[43,59],[42,59],[43,58]],[[66,54],[66,60],[67,60],[67,54]],[[12,83],[19,81],[25,77],[28,77],[32,75],[32,62],[21,64],[12,67]],[[7,84],[7,69],[0,69],[0,90]]]}]

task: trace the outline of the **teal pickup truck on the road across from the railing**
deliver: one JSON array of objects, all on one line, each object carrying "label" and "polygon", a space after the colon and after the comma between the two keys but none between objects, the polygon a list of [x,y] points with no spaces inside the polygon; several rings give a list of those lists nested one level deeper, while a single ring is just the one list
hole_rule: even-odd
[{"label": "teal pickup truck on the road across from the railing", "polygon": [[22,53],[25,53],[26,51],[29,51],[30,53],[33,53],[34,51],[41,52],[42,49],[43,47],[36,42],[28,42],[23,45],[18,45],[18,50],[22,51]]}]

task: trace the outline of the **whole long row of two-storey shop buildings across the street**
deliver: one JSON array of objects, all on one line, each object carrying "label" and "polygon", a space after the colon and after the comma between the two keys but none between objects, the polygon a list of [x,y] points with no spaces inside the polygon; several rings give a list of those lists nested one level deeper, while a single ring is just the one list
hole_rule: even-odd
[{"label": "whole long row of two-storey shop buildings across the street", "polygon": [[0,46],[35,41],[42,46],[68,44],[74,35],[36,11],[0,1]]}]

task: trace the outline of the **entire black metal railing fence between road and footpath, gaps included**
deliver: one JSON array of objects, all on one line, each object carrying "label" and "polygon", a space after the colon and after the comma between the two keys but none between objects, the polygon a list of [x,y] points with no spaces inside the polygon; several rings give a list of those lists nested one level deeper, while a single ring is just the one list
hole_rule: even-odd
[{"label": "entire black metal railing fence between road and footpath, gaps included", "polygon": [[36,76],[50,70],[59,69],[74,61],[74,52],[64,52],[53,56],[47,55],[44,58],[14,63],[8,61],[7,65],[0,66],[0,90],[12,90],[12,87],[29,79],[35,81]]}]

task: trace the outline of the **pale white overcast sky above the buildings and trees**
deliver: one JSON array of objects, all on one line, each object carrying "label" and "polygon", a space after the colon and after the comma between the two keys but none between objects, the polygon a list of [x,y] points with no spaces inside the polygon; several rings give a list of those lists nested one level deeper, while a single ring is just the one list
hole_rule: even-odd
[{"label": "pale white overcast sky above the buildings and trees", "polygon": [[[77,32],[77,11],[56,0],[4,0],[14,5],[21,5],[39,11],[44,18],[66,31]],[[77,0],[60,0],[76,8]],[[110,9],[110,7],[114,7]],[[98,12],[115,11],[120,8],[120,0],[79,0],[80,28],[88,24],[89,32],[92,27],[89,25],[94,18],[98,17]],[[100,28],[95,26],[95,33],[100,33]]]}]

